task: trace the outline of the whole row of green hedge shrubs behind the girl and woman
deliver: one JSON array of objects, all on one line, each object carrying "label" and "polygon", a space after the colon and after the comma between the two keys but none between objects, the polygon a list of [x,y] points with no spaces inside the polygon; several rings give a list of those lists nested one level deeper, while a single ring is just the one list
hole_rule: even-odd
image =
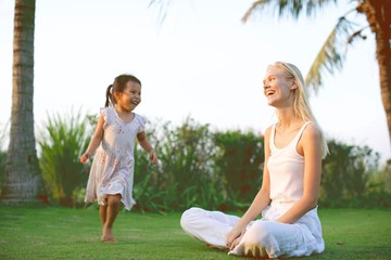
[{"label": "whole row of green hedge shrubs behind the girl and woman", "polygon": [[[49,116],[38,138],[39,160],[52,204],[84,206],[90,162],[80,154],[91,138],[96,117]],[[198,206],[243,210],[262,184],[263,135],[253,131],[211,130],[188,117],[179,126],[150,122],[147,134],[159,155],[153,166],[147,153],[135,151],[136,209],[184,210]],[[329,140],[330,155],[323,162],[321,207],[391,207],[391,164],[379,167],[379,155],[367,146]],[[0,181],[3,159],[0,153]]]}]

